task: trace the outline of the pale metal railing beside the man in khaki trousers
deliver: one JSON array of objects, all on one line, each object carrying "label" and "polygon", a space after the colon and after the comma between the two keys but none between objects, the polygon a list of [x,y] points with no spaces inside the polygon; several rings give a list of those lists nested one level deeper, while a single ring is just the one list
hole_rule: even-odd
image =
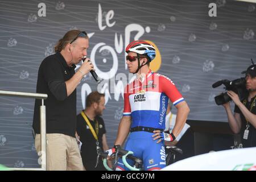
[{"label": "pale metal railing beside the man in khaki trousers", "polygon": [[[11,170],[19,171],[46,171],[46,106],[44,106],[44,100],[48,97],[47,94],[41,93],[29,93],[29,92],[13,92],[7,90],[0,90],[0,96],[10,97],[26,97],[42,99],[42,106],[40,106],[40,130],[41,130],[41,168],[9,168]],[[40,155],[39,154],[39,155]]]}]

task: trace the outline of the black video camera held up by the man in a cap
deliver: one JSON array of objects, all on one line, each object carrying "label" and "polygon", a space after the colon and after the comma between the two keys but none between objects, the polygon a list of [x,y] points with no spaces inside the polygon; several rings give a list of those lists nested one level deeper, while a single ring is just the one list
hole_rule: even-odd
[{"label": "black video camera held up by the man in a cap", "polygon": [[[220,80],[212,84],[212,88],[216,88],[220,85],[225,85],[225,90],[232,90],[233,92],[238,94],[238,97],[240,100],[243,100],[245,98],[245,92],[246,92],[246,87],[245,87],[245,78],[238,78],[233,81],[229,80]],[[228,96],[228,93],[221,93],[220,95],[214,97],[214,100],[217,105],[222,105],[225,104],[226,102],[231,101],[232,99]]]}]

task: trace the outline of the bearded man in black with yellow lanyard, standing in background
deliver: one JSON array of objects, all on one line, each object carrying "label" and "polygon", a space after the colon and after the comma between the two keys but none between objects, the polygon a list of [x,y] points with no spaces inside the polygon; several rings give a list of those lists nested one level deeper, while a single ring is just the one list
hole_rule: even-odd
[{"label": "bearded man in black with yellow lanyard, standing in background", "polygon": [[[104,171],[101,158],[97,162],[97,150],[108,150],[109,146],[106,140],[106,129],[101,115],[105,109],[105,94],[97,91],[91,92],[86,97],[86,107],[77,115],[77,135],[82,142],[81,156],[82,163],[88,171]],[[112,163],[108,161],[112,168]]]}]

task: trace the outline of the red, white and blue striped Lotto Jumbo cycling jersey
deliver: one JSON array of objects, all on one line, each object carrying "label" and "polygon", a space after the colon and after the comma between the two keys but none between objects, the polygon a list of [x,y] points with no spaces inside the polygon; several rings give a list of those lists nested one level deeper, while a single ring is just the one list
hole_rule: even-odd
[{"label": "red, white and blue striped Lotto Jumbo cycling jersey", "polygon": [[126,85],[123,116],[131,116],[131,127],[165,129],[168,99],[174,105],[184,101],[170,78],[150,70],[141,82],[136,78]]}]

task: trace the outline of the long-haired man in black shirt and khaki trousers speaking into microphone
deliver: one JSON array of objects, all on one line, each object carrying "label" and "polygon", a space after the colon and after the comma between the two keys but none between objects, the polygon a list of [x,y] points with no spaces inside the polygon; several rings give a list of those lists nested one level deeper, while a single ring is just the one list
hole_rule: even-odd
[{"label": "long-haired man in black shirt and khaki trousers speaking into microphone", "polygon": [[[38,71],[37,93],[48,94],[46,105],[47,170],[83,170],[76,142],[76,87],[82,77],[94,71],[86,58],[75,73],[77,63],[86,55],[86,32],[68,31],[55,46],[55,54],[42,61]],[[40,151],[40,100],[35,101],[33,129],[35,147]]]}]

